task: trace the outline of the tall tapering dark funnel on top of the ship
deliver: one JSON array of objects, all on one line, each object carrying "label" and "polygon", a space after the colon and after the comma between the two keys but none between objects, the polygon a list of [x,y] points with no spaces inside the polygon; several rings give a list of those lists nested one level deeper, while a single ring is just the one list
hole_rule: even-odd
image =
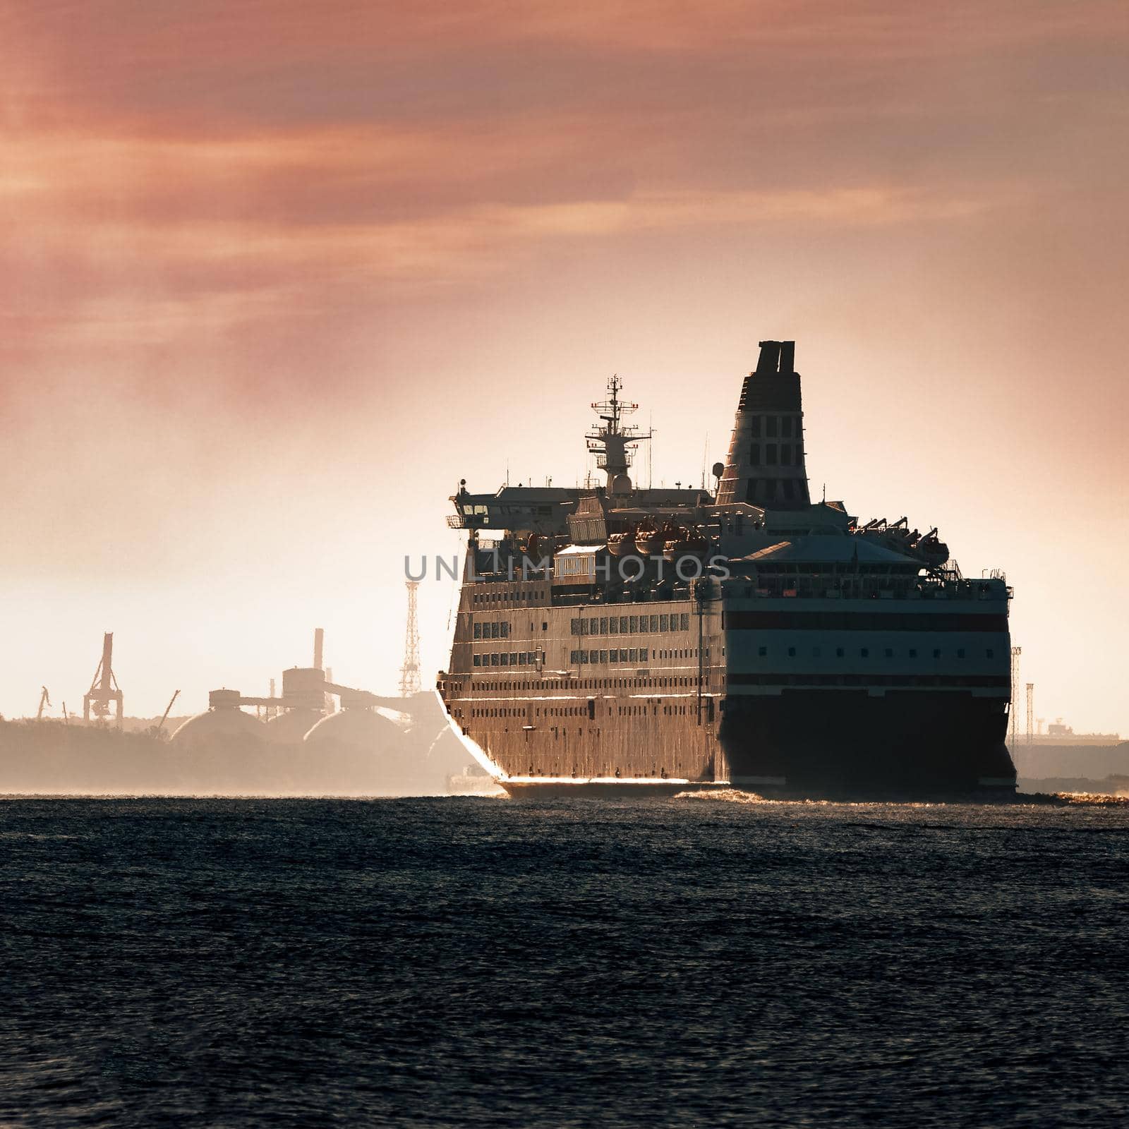
[{"label": "tall tapering dark funnel on top of the ship", "polygon": [[745,377],[718,505],[747,501],[765,509],[809,505],[804,465],[804,411],[795,341],[762,341]]}]

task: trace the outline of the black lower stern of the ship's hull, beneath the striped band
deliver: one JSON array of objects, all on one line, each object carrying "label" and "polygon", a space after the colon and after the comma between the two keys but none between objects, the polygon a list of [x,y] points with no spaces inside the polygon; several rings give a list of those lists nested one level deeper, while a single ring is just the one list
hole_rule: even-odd
[{"label": "black lower stern of the ship's hull, beneath the striped band", "polygon": [[1015,767],[998,698],[785,691],[730,697],[720,742],[734,787],[852,798],[1010,796]]}]

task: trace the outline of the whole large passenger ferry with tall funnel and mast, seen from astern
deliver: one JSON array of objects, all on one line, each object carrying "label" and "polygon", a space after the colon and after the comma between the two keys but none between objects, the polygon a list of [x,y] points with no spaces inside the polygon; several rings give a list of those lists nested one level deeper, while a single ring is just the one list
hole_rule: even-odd
[{"label": "whole large passenger ferry with tall funnel and mast, seen from astern", "polygon": [[586,437],[605,484],[460,484],[437,689],[510,795],[1014,794],[1006,578],[811,500],[794,359],[760,343],[714,491],[636,487],[616,378]]}]

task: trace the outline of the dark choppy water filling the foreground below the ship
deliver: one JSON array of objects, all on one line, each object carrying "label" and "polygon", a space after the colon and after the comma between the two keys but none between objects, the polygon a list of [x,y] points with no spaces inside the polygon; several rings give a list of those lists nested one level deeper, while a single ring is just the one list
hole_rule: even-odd
[{"label": "dark choppy water filling the foreground below the ship", "polygon": [[1124,1124],[1124,807],[0,802],[0,1123]]}]

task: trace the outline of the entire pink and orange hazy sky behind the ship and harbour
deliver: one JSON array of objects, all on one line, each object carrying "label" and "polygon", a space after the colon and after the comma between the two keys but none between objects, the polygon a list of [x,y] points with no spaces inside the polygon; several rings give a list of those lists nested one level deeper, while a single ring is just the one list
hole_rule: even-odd
[{"label": "entire pink and orange hazy sky behind the ship and harbour", "polygon": [[[0,710],[395,681],[446,497],[655,479],[795,338],[813,489],[1003,567],[1036,714],[1129,732],[1129,9],[0,0]],[[421,594],[444,665],[449,588]]]}]

